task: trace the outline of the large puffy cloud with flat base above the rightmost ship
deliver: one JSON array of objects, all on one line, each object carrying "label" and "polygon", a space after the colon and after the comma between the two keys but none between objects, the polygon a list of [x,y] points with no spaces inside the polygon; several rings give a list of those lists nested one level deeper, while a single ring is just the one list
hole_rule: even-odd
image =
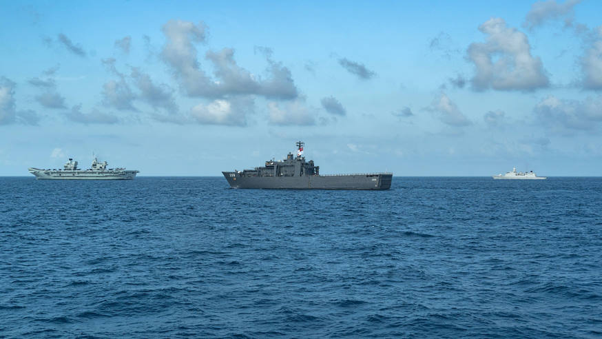
[{"label": "large puffy cloud with flat base above the rightmost ship", "polygon": [[527,36],[506,26],[504,19],[492,18],[479,26],[487,34],[485,43],[471,43],[467,58],[475,64],[471,79],[475,90],[532,91],[548,87],[549,81],[539,57],[531,55]]}]

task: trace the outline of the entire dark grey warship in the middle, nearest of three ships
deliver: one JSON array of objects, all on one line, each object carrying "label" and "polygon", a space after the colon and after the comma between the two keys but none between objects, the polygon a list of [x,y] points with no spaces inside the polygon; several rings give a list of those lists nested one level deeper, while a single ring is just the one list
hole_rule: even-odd
[{"label": "entire dark grey warship in the middle, nearest of three ships", "polygon": [[393,173],[320,175],[313,160],[305,161],[304,143],[297,142],[297,156],[289,152],[282,161],[269,160],[253,170],[222,172],[231,188],[267,189],[389,189]]}]

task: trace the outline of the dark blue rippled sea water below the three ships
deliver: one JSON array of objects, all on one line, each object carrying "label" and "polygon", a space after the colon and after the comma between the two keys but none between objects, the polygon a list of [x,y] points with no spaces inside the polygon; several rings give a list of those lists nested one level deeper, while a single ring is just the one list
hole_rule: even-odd
[{"label": "dark blue rippled sea water below the three ships", "polygon": [[0,178],[0,337],[599,337],[602,178]]}]

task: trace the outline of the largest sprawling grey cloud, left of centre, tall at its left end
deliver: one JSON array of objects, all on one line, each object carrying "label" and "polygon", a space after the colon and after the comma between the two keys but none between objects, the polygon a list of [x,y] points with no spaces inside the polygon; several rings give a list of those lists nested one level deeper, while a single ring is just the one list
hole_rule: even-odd
[{"label": "largest sprawling grey cloud, left of centre, tall at its left end", "polygon": [[297,88],[291,72],[271,59],[267,53],[267,76],[262,79],[240,67],[234,59],[234,50],[223,48],[208,51],[205,59],[214,66],[214,78],[200,68],[194,43],[205,41],[205,26],[189,21],[170,20],[163,25],[167,43],[161,57],[167,63],[188,96],[224,99],[233,95],[260,95],[269,99],[294,99]]}]

